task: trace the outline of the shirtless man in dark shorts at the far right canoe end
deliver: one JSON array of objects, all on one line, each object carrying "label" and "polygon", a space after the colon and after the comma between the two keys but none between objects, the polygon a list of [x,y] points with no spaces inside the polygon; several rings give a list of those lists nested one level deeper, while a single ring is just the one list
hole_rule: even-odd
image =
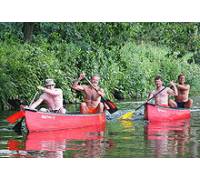
[{"label": "shirtless man in dark shorts at the far right canoe end", "polygon": [[193,100],[189,99],[190,85],[185,84],[184,74],[178,76],[178,84],[176,84],[178,89],[178,96],[175,97],[177,108],[191,108]]}]

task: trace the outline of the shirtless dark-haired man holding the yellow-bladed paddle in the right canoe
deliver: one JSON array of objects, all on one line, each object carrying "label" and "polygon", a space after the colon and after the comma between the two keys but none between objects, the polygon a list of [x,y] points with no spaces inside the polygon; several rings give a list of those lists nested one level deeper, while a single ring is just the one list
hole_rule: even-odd
[{"label": "shirtless dark-haired man holding the yellow-bladed paddle in the right canoe", "polygon": [[[156,85],[156,90],[152,91],[149,94],[148,99],[152,98],[154,95],[156,95],[159,91],[161,91],[163,88],[163,82],[160,76],[155,77],[155,85]],[[176,88],[176,85],[174,84],[173,81],[170,82],[170,85],[173,87],[174,90],[172,90],[169,87],[166,87],[162,92],[157,94],[154,99],[155,99],[155,104],[159,106],[165,106],[165,107],[175,107],[175,102],[173,100],[169,100],[169,96],[177,96],[178,91]],[[147,100],[148,101],[148,100]]]}]

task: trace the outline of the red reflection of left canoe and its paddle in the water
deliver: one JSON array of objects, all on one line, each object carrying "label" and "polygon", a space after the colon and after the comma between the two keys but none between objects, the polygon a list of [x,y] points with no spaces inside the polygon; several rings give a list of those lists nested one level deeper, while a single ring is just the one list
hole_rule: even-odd
[{"label": "red reflection of left canoe and its paddle in the water", "polygon": [[25,141],[10,139],[8,149],[12,157],[102,157],[107,142],[105,127],[87,127],[71,130],[33,132]]}]

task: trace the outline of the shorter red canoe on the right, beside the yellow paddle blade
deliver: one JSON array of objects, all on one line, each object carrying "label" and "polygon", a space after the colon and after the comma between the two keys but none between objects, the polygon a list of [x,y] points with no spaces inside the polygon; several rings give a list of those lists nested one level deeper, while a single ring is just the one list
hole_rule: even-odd
[{"label": "shorter red canoe on the right, beside the yellow paddle blade", "polygon": [[150,122],[176,121],[190,119],[190,117],[189,109],[174,109],[149,103],[145,105],[144,118]]}]

